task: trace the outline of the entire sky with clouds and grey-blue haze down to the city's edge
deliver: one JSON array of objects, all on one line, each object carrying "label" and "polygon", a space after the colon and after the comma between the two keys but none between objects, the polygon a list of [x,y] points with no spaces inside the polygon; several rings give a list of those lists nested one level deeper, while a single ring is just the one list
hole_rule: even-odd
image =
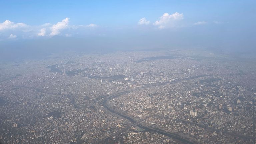
[{"label": "entire sky with clouds and grey-blue haze down to the city's edge", "polygon": [[255,53],[255,1],[58,2],[0,2],[2,60],[67,50]]}]

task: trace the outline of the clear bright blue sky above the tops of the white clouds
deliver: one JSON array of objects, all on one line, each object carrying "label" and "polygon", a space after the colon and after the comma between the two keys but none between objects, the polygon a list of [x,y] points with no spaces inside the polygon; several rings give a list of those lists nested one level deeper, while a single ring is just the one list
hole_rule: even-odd
[{"label": "clear bright blue sky above the tops of the white clouds", "polygon": [[[66,17],[71,24],[96,23],[102,26],[132,25],[141,17],[155,21],[163,13],[183,13],[187,21],[234,21],[255,12],[253,1],[33,1],[0,2],[0,20],[29,25],[56,23]],[[250,14],[251,13],[251,14]]]}]

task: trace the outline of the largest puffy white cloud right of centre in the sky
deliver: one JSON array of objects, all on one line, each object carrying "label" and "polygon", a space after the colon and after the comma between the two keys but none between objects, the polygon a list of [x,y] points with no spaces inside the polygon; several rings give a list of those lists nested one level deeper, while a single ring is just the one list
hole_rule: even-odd
[{"label": "largest puffy white cloud right of centre in the sky", "polygon": [[155,21],[153,25],[158,26],[159,29],[163,29],[166,27],[176,27],[177,21],[183,19],[183,14],[178,12],[169,15],[168,13],[164,13],[158,21]]}]

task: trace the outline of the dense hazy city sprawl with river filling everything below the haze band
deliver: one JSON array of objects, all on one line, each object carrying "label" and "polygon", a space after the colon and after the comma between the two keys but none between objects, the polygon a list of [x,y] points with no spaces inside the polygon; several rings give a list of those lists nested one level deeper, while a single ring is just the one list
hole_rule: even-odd
[{"label": "dense hazy city sprawl with river filling everything below the haze band", "polygon": [[249,144],[255,105],[255,60],[209,51],[0,63],[3,144]]}]

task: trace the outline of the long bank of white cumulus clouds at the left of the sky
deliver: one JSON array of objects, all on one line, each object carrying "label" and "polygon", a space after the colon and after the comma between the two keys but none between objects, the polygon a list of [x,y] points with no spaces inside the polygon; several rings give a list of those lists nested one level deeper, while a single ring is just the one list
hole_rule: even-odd
[{"label": "long bank of white cumulus clouds at the left of the sky", "polygon": [[[65,18],[55,24],[45,23],[42,25],[26,25],[24,23],[15,23],[6,20],[3,23],[0,23],[0,33],[2,33],[2,35],[0,34],[0,39],[8,39],[8,37],[11,39],[17,36],[22,39],[55,35],[70,37],[81,33],[81,29],[95,27],[98,27],[98,25],[93,23],[89,25],[69,25],[69,18]],[[16,35],[9,36],[14,32]]]}]

